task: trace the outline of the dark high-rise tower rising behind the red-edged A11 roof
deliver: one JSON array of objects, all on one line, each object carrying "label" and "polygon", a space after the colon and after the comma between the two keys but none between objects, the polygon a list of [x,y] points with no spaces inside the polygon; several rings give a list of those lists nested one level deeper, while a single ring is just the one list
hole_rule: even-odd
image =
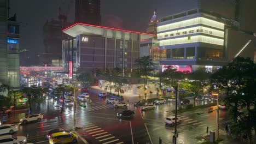
[{"label": "dark high-rise tower rising behind the red-edged A11 roof", "polygon": [[100,0],[75,0],[74,23],[88,23],[101,25],[101,1]]}]

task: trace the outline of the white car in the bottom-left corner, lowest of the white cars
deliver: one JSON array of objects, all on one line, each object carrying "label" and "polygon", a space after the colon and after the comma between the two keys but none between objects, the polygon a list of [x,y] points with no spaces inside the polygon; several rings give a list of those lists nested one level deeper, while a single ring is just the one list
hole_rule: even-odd
[{"label": "white car in the bottom-left corner, lowest of the white cars", "polygon": [[14,136],[14,135],[3,135],[0,136],[0,143],[27,143],[27,137],[25,136]]}]

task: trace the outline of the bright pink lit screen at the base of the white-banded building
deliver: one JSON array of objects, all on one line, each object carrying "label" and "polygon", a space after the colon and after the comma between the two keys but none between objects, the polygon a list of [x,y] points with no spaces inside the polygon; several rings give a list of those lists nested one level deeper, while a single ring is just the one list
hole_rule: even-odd
[{"label": "bright pink lit screen at the base of the white-banded building", "polygon": [[180,71],[182,73],[191,73],[191,65],[162,65],[162,72],[168,69],[173,69],[175,71]]}]

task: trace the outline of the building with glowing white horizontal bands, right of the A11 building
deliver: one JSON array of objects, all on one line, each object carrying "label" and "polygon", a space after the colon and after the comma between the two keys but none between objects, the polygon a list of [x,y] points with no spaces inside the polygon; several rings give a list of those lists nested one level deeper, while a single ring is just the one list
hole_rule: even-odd
[{"label": "building with glowing white horizontal bands, right of the A11 building", "polygon": [[[158,23],[160,50],[166,50],[161,65],[191,65],[191,71],[210,69],[232,61],[235,54],[254,39],[252,33],[237,31],[239,23],[219,15],[193,9],[163,17]],[[253,60],[253,44],[240,54]]]}]

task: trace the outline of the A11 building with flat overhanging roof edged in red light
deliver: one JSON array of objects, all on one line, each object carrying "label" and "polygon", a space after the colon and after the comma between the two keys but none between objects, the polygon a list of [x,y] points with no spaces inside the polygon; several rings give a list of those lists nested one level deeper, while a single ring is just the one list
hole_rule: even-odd
[{"label": "A11 building with flat overhanging roof edged in red light", "polygon": [[112,68],[131,71],[139,57],[139,41],[155,36],[84,23],[75,23],[63,32],[73,37],[62,41],[64,70],[68,71],[73,60],[74,70],[80,68],[89,73]]}]

